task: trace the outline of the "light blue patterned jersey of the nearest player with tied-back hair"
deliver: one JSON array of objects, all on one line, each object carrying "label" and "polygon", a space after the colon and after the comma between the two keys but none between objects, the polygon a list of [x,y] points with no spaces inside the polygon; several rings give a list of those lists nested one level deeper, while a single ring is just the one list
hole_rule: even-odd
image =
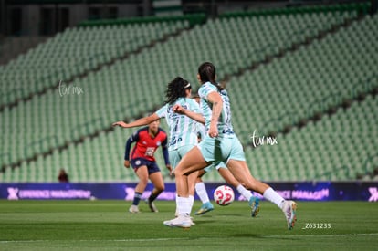
[{"label": "light blue patterned jersey of the nearest player with tied-back hair", "polygon": [[201,98],[201,110],[203,116],[205,117],[206,131],[208,131],[210,128],[210,120],[213,110],[212,104],[207,100],[207,96],[213,91],[218,92],[223,100],[223,108],[218,120],[219,137],[234,134],[234,129],[231,124],[230,99],[228,98],[227,91],[226,89],[218,91],[215,85],[211,84],[210,82],[205,82],[205,84],[198,89],[198,94]]}]

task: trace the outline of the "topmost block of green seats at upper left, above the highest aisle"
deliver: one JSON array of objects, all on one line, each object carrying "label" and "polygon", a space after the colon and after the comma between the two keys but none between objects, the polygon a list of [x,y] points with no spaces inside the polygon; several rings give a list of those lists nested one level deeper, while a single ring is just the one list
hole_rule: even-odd
[{"label": "topmost block of green seats at upper left, above the highest aisle", "polygon": [[0,67],[0,81],[13,83],[2,86],[0,104],[57,86],[60,80],[68,81],[188,26],[187,21],[179,20],[68,28]]}]

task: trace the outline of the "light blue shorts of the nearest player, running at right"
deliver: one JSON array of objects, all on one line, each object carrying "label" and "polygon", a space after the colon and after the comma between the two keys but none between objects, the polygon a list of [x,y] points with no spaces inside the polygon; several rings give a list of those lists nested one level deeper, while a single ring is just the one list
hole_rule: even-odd
[{"label": "light blue shorts of the nearest player, running at right", "polygon": [[228,160],[246,161],[243,146],[236,135],[225,135],[217,138],[210,138],[206,135],[205,139],[198,144],[198,149],[206,162],[214,162],[215,166],[219,162]]}]

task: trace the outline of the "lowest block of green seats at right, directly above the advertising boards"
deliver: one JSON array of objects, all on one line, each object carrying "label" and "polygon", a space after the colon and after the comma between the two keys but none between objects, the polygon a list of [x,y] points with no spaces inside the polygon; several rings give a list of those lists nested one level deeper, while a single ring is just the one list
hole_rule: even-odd
[{"label": "lowest block of green seats at right, directly above the advertising boards", "polygon": [[369,157],[378,149],[378,99],[367,96],[350,109],[337,110],[317,123],[288,135],[277,145],[247,148],[251,172],[267,181],[348,181],[373,173]]}]

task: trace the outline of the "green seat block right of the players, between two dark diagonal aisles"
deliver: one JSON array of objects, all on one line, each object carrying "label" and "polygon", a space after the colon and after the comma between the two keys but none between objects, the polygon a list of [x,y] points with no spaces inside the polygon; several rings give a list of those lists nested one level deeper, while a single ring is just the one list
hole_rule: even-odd
[{"label": "green seat block right of the players, between two dark diagonal aisles", "polygon": [[[232,99],[247,102],[234,106],[236,131],[244,139],[252,132],[250,127],[264,134],[280,131],[340,105],[344,99],[355,99],[360,93],[371,91],[378,81],[374,69],[378,47],[372,43],[378,38],[374,28],[377,24],[377,16],[367,16],[308,47],[275,59],[267,67],[233,78],[229,91]],[[250,91],[246,93],[246,89]]]}]

